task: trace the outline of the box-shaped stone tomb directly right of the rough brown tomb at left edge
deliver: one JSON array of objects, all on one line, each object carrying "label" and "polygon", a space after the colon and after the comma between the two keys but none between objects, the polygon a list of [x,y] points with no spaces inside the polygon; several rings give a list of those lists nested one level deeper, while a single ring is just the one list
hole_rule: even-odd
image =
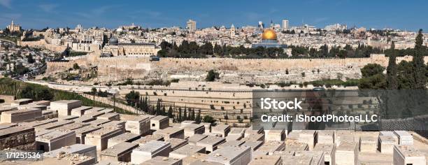
[{"label": "box-shaped stone tomb directly right of the rough brown tomb at left edge", "polygon": [[76,144],[74,131],[52,131],[36,137],[37,150],[51,151],[73,144]]}]

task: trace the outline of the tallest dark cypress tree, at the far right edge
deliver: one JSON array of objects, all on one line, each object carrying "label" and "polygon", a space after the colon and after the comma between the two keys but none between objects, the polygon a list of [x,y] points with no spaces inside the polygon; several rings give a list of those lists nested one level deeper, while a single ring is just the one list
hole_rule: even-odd
[{"label": "tallest dark cypress tree, at the far right edge", "polygon": [[422,29],[419,30],[415,42],[415,54],[413,55],[413,77],[415,78],[415,89],[426,89],[427,78],[425,77],[425,47],[423,43]]}]

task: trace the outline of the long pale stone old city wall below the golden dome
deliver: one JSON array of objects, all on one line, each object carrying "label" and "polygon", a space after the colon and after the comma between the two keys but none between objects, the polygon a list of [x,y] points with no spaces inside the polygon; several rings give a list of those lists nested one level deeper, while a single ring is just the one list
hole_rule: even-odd
[{"label": "long pale stone old city wall below the golden dome", "polygon": [[[397,63],[402,60],[410,61],[412,57],[397,57]],[[428,57],[425,57],[428,61]],[[56,63],[56,64],[51,64]],[[355,72],[366,64],[380,64],[387,66],[388,57],[384,55],[371,55],[369,58],[347,58],[347,59],[231,59],[231,58],[208,58],[208,59],[178,59],[161,58],[159,62],[150,62],[144,57],[104,57],[85,60],[76,59],[70,62],[48,62],[48,71],[68,69],[74,63],[79,65],[92,64],[98,66],[99,78],[105,80],[121,80],[124,78],[145,78],[148,73],[164,72],[192,73],[206,72],[211,69],[220,71],[231,71],[234,73],[252,72],[283,72],[285,70],[316,71],[336,70],[343,72]],[[300,73],[300,72],[299,72]]]}]

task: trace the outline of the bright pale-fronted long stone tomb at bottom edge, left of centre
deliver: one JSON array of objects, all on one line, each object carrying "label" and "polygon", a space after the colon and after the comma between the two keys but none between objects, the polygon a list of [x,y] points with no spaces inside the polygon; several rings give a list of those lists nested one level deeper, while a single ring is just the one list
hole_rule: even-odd
[{"label": "bright pale-fronted long stone tomb at bottom edge, left of centre", "polygon": [[164,141],[149,141],[132,150],[131,163],[141,164],[157,156],[168,157],[171,143]]}]

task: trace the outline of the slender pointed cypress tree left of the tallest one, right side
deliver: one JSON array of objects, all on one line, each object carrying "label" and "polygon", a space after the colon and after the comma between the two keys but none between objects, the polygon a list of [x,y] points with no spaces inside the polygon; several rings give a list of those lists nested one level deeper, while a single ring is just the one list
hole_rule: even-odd
[{"label": "slender pointed cypress tree left of the tallest one, right side", "polygon": [[387,66],[387,88],[388,89],[397,89],[397,64],[396,64],[396,52],[395,52],[395,43],[392,41],[390,49],[390,60]]}]

